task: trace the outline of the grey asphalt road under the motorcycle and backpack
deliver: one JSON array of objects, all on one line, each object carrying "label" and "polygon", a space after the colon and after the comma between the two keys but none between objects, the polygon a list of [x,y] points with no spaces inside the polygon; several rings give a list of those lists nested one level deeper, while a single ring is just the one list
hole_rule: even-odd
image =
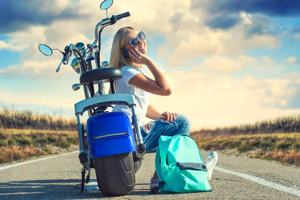
[{"label": "grey asphalt road under the motorcycle and backpack", "polygon": [[[200,151],[203,159],[208,152]],[[0,199],[300,199],[300,167],[274,161],[227,156],[219,158],[209,181],[211,192],[152,194],[149,180],[154,172],[155,153],[145,155],[136,173],[134,190],[126,196],[102,196],[91,172],[87,190],[76,195],[80,183],[78,152],[3,168],[0,165]]]}]

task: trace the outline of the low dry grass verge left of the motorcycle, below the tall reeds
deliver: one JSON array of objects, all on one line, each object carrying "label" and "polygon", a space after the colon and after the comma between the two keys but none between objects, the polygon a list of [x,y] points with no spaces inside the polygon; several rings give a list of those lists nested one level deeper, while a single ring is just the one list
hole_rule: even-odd
[{"label": "low dry grass verge left of the motorcycle, below the tall reeds", "polygon": [[0,129],[0,163],[77,149],[75,131]]}]

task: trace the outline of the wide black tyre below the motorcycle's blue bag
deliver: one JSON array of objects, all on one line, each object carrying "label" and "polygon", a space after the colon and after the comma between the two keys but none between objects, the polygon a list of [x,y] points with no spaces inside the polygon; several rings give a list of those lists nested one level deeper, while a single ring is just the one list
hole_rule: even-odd
[{"label": "wide black tyre below the motorcycle's blue bag", "polygon": [[122,196],[135,186],[132,153],[93,158],[99,190],[104,196]]}]

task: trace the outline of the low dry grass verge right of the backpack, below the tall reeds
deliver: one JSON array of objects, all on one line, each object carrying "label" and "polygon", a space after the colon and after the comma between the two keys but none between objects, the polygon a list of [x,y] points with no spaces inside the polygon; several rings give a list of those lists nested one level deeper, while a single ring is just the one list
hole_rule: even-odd
[{"label": "low dry grass verge right of the backpack, below the tall reeds", "polygon": [[191,136],[200,149],[300,166],[300,133],[209,135],[192,132]]}]

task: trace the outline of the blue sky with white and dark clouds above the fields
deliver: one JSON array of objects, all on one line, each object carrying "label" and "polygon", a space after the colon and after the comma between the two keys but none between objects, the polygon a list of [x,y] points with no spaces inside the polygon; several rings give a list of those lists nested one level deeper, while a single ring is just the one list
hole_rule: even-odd
[{"label": "blue sky with white and dark clouds above the fields", "polygon": [[[147,55],[173,89],[170,96],[151,95],[158,111],[186,114],[193,128],[299,113],[300,1],[136,2],[114,0],[108,9],[109,16],[132,15],[103,30],[101,61],[118,28],[143,30]],[[61,53],[44,56],[37,46],[92,43],[95,24],[106,17],[100,3],[0,0],[0,105],[74,118],[73,105],[83,99],[82,89],[71,89],[79,74],[70,65],[56,73]]]}]

